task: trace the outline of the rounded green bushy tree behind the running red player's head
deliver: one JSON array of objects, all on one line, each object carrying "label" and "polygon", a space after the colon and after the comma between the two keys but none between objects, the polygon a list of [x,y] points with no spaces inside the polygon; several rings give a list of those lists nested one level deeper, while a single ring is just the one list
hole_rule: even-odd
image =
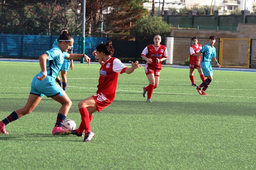
[{"label": "rounded green bushy tree behind the running red player's head", "polygon": [[134,23],[130,29],[130,35],[143,37],[144,40],[152,39],[156,34],[168,36],[172,25],[162,20],[158,16],[143,16]]}]

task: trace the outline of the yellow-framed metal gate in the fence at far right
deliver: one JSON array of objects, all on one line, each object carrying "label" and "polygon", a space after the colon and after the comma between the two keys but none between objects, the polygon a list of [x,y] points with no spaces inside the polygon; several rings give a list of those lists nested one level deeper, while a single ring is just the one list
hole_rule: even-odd
[{"label": "yellow-framed metal gate in the fence at far right", "polygon": [[221,38],[219,55],[221,66],[249,68],[250,39]]}]

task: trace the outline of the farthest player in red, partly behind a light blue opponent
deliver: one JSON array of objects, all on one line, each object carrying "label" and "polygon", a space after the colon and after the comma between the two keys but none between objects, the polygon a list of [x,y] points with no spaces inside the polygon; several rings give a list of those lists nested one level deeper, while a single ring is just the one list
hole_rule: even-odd
[{"label": "farthest player in red, partly behind a light blue opponent", "polygon": [[[191,86],[196,86],[194,78],[194,69],[196,68],[200,74],[202,82],[204,82],[204,74],[202,72],[201,66],[196,65],[197,53],[202,49],[201,44],[198,44],[197,37],[192,37],[193,44],[190,46],[190,57],[189,57],[189,78],[192,82]],[[200,60],[200,59],[198,59]]]}]

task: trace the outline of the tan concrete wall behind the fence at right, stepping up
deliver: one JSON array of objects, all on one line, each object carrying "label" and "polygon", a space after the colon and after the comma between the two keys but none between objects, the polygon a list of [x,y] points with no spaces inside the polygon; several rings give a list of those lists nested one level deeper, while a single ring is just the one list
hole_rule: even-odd
[{"label": "tan concrete wall behind the fence at right, stepping up", "polygon": [[[207,29],[171,29],[170,37],[174,37],[173,43],[173,59],[172,63],[169,64],[183,64],[190,55],[189,48],[191,45],[191,37],[198,37],[198,43],[202,46],[209,43],[210,35],[217,36],[217,41],[214,44],[217,52],[217,59],[219,55],[219,39],[220,38],[245,38],[245,39],[256,39],[256,24],[238,24],[238,31],[217,31],[217,30],[207,30]],[[168,41],[166,45],[169,46]],[[253,42],[253,44],[255,44]],[[244,51],[244,43],[234,47],[238,53],[238,61],[244,62],[244,57],[247,55],[247,51]],[[231,47],[230,51],[225,51],[225,55],[232,54],[234,55],[234,48]],[[239,49],[241,48],[241,49]],[[169,51],[170,49],[168,49]],[[256,67],[256,47],[252,46],[252,67]],[[226,58],[228,59],[228,57]],[[230,62],[228,59],[227,62]],[[228,64],[228,63],[227,63]]]}]

